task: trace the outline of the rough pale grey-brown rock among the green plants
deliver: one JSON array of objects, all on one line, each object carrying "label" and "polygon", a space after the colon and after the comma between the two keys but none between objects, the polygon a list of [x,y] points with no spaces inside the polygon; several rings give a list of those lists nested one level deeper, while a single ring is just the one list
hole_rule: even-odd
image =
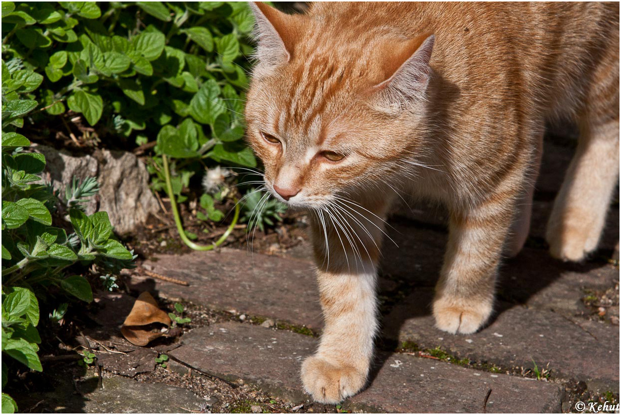
[{"label": "rough pale grey-brown rock among the green plants", "polygon": [[131,232],[146,221],[148,214],[160,210],[149,188],[147,168],[133,153],[96,150],[93,155],[75,157],[46,145],[33,147],[47,160],[43,180],[52,181],[61,194],[74,177],[97,177],[99,198],[89,199],[86,213],[106,211],[118,234]]}]

